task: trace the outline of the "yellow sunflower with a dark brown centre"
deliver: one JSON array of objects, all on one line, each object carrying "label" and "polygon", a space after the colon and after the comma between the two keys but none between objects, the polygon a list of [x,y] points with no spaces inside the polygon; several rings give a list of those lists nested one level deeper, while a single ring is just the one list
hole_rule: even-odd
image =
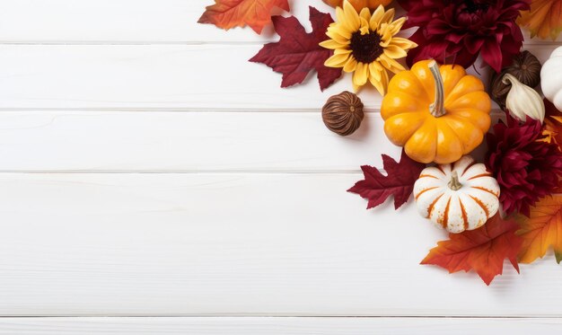
[{"label": "yellow sunflower with a dark brown centre", "polygon": [[343,9],[336,8],[336,19],[326,32],[330,40],[320,44],[334,50],[334,55],[324,65],[353,72],[356,91],[370,82],[384,95],[389,84],[387,70],[395,74],[403,71],[404,66],[396,59],[406,57],[406,51],[417,47],[410,40],[395,37],[406,18],[394,21],[394,9],[385,11],[382,5],[373,14],[369,8],[357,13],[346,0]]}]

